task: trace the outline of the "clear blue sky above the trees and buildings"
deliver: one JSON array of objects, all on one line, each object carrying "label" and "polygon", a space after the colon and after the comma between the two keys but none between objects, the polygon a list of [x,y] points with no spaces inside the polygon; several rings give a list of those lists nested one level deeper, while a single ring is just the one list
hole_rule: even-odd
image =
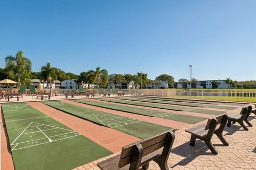
[{"label": "clear blue sky above the trees and buildings", "polygon": [[0,67],[256,79],[256,1],[0,1]]}]

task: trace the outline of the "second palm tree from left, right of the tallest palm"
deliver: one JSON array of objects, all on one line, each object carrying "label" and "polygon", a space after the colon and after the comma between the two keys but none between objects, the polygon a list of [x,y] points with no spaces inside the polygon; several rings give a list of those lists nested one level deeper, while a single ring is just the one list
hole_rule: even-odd
[{"label": "second palm tree from left, right of the tallest palm", "polygon": [[[51,77],[51,81],[50,81]],[[53,83],[54,80],[57,80],[56,68],[51,67],[50,62],[47,62],[45,66],[41,67],[40,79],[44,80],[47,83],[47,88],[50,83]]]}]

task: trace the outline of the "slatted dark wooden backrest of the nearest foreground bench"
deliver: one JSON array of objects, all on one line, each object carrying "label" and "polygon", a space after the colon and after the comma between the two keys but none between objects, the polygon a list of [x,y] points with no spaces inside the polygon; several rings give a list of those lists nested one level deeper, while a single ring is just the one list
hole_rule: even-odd
[{"label": "slatted dark wooden backrest of the nearest foreground bench", "polygon": [[130,169],[137,169],[140,167],[142,157],[163,147],[162,155],[168,157],[175,138],[174,131],[175,129],[166,131],[148,139],[126,145],[122,148],[118,167],[121,168],[131,164]]}]

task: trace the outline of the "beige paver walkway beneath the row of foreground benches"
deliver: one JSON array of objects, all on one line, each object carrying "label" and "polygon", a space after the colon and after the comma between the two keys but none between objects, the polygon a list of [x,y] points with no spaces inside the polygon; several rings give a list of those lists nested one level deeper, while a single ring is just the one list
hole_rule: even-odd
[{"label": "beige paver walkway beneath the row of foreground benches", "polygon": [[[212,143],[219,151],[218,155],[213,155],[204,142],[200,140],[196,141],[195,147],[190,147],[190,134],[183,130],[177,131],[168,160],[169,168],[178,170],[256,169],[256,117],[250,116],[249,120],[253,124],[253,127],[249,127],[249,131],[244,131],[238,124],[225,128],[223,134],[228,140],[229,146],[223,145],[217,136],[213,136]],[[74,170],[98,170],[96,164],[109,157],[113,157],[113,155],[95,160]],[[154,161],[151,161],[149,169],[155,170],[159,167]]]}]

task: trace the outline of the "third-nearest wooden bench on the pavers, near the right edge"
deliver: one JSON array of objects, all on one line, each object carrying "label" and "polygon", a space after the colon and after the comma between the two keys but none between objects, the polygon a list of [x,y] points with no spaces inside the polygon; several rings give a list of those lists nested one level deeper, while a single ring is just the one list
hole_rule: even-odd
[{"label": "third-nearest wooden bench on the pavers, near the right edge", "polygon": [[233,124],[235,124],[237,122],[245,129],[245,131],[248,131],[248,128],[244,125],[244,122],[247,125],[252,126],[252,124],[248,121],[248,117],[250,115],[251,110],[252,110],[252,107],[248,106],[248,107],[242,108],[242,110],[239,114],[238,113],[231,114],[228,118],[228,125],[227,126],[230,127],[231,122]]}]

